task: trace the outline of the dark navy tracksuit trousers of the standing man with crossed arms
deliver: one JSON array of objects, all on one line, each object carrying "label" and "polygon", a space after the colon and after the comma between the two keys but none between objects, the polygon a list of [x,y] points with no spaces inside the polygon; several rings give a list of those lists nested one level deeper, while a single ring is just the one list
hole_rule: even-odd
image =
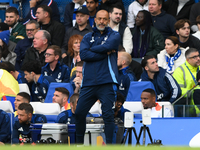
[{"label": "dark navy tracksuit trousers of the standing man with crossed arms", "polygon": [[94,103],[101,101],[102,117],[105,123],[106,143],[111,144],[114,133],[114,111],[112,107],[116,101],[117,85],[113,83],[82,87],[76,107],[76,142],[84,143],[86,130],[86,115]]}]

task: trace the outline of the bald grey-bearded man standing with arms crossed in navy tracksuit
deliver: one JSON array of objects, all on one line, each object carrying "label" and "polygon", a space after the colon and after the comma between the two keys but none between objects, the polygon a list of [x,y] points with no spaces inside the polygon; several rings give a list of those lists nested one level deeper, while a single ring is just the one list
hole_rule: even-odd
[{"label": "bald grey-bearded man standing with arms crossed in navy tracksuit", "polygon": [[83,144],[86,129],[86,115],[99,99],[105,123],[106,143],[111,144],[114,132],[114,112],[112,107],[117,91],[117,50],[120,34],[107,27],[108,12],[100,10],[96,14],[96,27],[86,34],[81,42],[80,57],[84,61],[83,80],[76,107],[76,142]]}]

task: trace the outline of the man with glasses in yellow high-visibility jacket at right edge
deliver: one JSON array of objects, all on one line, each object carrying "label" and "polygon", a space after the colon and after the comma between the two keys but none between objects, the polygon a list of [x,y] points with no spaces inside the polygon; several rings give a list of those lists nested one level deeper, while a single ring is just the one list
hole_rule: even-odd
[{"label": "man with glasses in yellow high-visibility jacket at right edge", "polygon": [[[196,75],[199,71],[200,58],[199,51],[195,48],[189,48],[185,52],[186,61],[181,66],[175,69],[173,77],[176,79],[181,87],[182,95],[186,94],[190,89],[197,85]],[[185,97],[188,97],[188,104],[190,104],[191,93],[189,92]],[[185,104],[177,102],[177,104]]]}]

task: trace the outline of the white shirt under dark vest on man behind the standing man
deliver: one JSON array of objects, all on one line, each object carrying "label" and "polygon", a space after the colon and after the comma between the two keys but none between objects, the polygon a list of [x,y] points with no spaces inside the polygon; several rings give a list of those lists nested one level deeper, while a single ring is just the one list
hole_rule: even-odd
[{"label": "white shirt under dark vest on man behind the standing man", "polygon": [[[119,31],[119,24],[116,25],[113,28],[114,31]],[[132,34],[131,34],[131,30],[129,29],[129,27],[126,27],[126,29],[124,30],[124,34],[123,34],[123,47],[125,48],[126,52],[128,52],[129,54],[132,53],[132,49],[133,49],[133,41],[132,41]]]}]

